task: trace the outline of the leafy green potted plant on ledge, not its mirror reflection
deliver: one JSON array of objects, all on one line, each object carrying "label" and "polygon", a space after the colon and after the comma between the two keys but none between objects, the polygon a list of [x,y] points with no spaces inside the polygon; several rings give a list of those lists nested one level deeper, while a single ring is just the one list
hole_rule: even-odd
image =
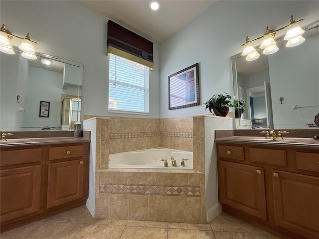
[{"label": "leafy green potted plant on ledge, not its mirror reflection", "polygon": [[205,111],[208,110],[211,112],[213,110],[216,116],[225,117],[229,111],[231,96],[224,92],[224,94],[213,95],[205,104]]}]

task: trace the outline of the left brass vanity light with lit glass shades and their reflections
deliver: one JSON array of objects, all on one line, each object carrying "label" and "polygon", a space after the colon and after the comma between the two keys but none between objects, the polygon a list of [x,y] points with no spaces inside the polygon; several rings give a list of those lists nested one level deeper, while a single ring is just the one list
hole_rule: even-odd
[{"label": "left brass vanity light with lit glass shades and their reflections", "polygon": [[0,51],[7,53],[7,54],[14,54],[14,51],[12,49],[12,45],[9,43],[9,40],[12,39],[12,37],[17,37],[22,39],[22,42],[19,46],[19,49],[23,51],[21,56],[27,58],[27,59],[36,59],[37,57],[34,55],[35,49],[32,45],[32,43],[37,44],[35,41],[30,40],[29,33],[26,35],[25,38],[22,38],[20,36],[13,35],[10,31],[8,31],[5,28],[5,25],[2,24],[0,28]]}]

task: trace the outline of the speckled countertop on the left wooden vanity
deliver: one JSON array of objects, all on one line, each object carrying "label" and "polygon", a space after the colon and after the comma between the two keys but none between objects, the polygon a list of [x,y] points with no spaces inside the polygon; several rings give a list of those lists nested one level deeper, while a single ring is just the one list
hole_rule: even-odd
[{"label": "speckled countertop on the left wooden vanity", "polygon": [[46,137],[46,138],[13,138],[0,141],[0,146],[29,146],[39,144],[84,143],[90,142],[88,137]]}]

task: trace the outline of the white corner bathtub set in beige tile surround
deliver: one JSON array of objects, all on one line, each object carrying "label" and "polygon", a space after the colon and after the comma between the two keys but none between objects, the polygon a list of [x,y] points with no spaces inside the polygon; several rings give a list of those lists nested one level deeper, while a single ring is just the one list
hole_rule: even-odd
[{"label": "white corner bathtub set in beige tile surround", "polygon": [[[173,156],[177,167],[172,167]],[[164,167],[166,159],[168,167]],[[182,159],[185,160],[185,166],[181,166]],[[193,153],[169,148],[151,148],[139,151],[130,151],[123,153],[113,153],[109,155],[109,168],[163,168],[163,169],[192,169]]]}]

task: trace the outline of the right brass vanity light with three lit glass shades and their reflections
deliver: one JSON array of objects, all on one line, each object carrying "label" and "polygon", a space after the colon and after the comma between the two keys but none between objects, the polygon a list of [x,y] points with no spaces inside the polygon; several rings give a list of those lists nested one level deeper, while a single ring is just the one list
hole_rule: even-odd
[{"label": "right brass vanity light with three lit glass shades and their reflections", "polygon": [[[294,47],[294,46],[300,45],[301,43],[303,43],[305,41],[305,38],[302,37],[302,34],[305,31],[300,27],[300,25],[298,23],[303,21],[303,20],[304,19],[300,19],[298,21],[295,21],[294,16],[292,15],[290,24],[287,25],[287,26],[284,26],[284,27],[279,28],[279,29],[274,30],[274,31],[270,30],[269,27],[267,26],[265,34],[263,36],[260,36],[260,37],[258,37],[256,39],[252,40],[252,41],[249,41],[249,38],[247,36],[248,41],[247,41],[247,38],[246,38],[246,42],[245,42],[245,44],[243,44],[244,50],[243,50],[242,55],[243,56],[244,55],[248,55],[249,56],[250,54],[254,53],[254,51],[252,51],[252,52],[247,54],[247,52],[249,52],[251,49],[255,49],[253,47],[253,45],[251,44],[251,42],[259,40],[261,38],[263,38],[263,39],[262,39],[262,43],[259,46],[259,48],[264,49],[263,54],[270,55],[270,54],[273,54],[273,53],[277,52],[279,50],[279,48],[276,45],[276,41],[274,40],[274,37],[276,35],[276,32],[278,32],[280,30],[283,30],[283,29],[285,29],[287,27],[288,27],[288,30],[287,30],[287,33],[286,33],[286,35],[284,37],[284,40],[288,40],[286,46],[287,47]],[[247,44],[248,42],[249,42],[249,45]],[[247,47],[249,47],[249,48],[246,49]],[[247,61],[253,61],[253,60],[256,60],[259,57],[259,54],[258,54],[258,57],[248,57],[248,56],[246,57],[246,60]]]}]

